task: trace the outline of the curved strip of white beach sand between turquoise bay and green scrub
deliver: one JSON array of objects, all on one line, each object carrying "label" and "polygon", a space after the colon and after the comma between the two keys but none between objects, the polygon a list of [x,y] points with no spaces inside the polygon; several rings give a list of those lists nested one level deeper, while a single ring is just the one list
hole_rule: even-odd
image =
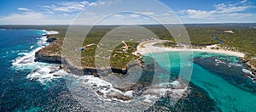
[{"label": "curved strip of white beach sand between turquoise bay and green scrub", "polygon": [[172,51],[178,51],[178,52],[183,52],[183,51],[191,51],[191,52],[205,52],[205,53],[221,53],[221,54],[226,54],[230,56],[236,56],[236,57],[244,57],[244,53],[239,53],[239,52],[234,52],[234,51],[228,51],[224,50],[222,48],[219,49],[211,49],[211,48],[216,48],[218,45],[212,45],[212,46],[207,46],[207,48],[160,48],[160,47],[155,47],[153,46],[155,43],[158,42],[168,42],[166,40],[154,40],[154,41],[146,41],[140,43],[140,45],[137,47],[137,53],[145,54],[145,53],[161,53],[161,52],[172,52]]}]

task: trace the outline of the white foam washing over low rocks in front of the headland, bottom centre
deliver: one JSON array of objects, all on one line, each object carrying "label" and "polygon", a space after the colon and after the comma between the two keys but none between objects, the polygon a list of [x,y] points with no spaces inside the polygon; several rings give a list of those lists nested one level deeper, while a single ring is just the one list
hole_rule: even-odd
[{"label": "white foam washing over low rocks in front of the headland, bottom centre", "polygon": [[[113,85],[108,82],[104,81],[99,77],[95,76],[76,76],[69,74],[69,76],[73,76],[76,80],[76,85],[80,85],[84,88],[90,88],[92,91],[96,92],[101,92],[102,95],[98,95],[96,93],[96,96],[102,100],[106,101],[119,101],[121,103],[131,103],[131,102],[145,102],[147,104],[154,103],[158,98],[165,96],[166,92],[172,92],[171,96],[173,98],[181,98],[183,94],[186,94],[188,90],[187,87],[184,87],[184,85],[180,81],[172,81],[169,83],[162,83],[154,87],[149,87],[146,91],[142,92],[141,96],[135,96],[134,91],[127,91],[127,92],[122,92],[119,89],[116,89],[113,87]],[[69,84],[67,84],[69,85]],[[169,86],[171,85],[171,87]],[[116,98],[108,98],[108,93],[110,92],[115,92],[118,93],[119,95],[125,96],[132,98],[131,100],[124,101]]]}]

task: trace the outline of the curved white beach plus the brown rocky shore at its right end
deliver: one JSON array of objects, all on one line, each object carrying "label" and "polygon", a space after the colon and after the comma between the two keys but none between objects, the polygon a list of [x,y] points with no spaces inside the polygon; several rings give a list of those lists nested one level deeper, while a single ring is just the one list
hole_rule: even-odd
[{"label": "curved white beach plus the brown rocky shore at its right end", "polygon": [[[224,50],[223,48],[219,48],[218,45],[207,46],[207,48],[166,48],[166,47],[156,47],[154,44],[156,43],[164,43],[170,42],[167,40],[151,40],[146,42],[141,42],[137,46],[137,52],[133,53],[134,55],[138,54],[147,54],[147,53],[166,53],[166,52],[189,52],[193,54],[193,52],[201,52],[201,53],[218,53],[225,54],[229,56],[235,56],[240,59],[241,63],[245,64],[247,70],[244,70],[247,73],[247,77],[251,78],[254,82],[256,82],[256,67],[253,64],[250,64],[250,61],[253,59],[246,59],[245,53]],[[212,49],[218,48],[218,49]]]}]

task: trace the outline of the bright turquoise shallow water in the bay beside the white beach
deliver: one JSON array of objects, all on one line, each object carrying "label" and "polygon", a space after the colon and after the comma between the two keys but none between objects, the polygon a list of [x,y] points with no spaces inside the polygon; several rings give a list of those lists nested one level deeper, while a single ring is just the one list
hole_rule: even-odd
[{"label": "bright turquoise shallow water in the bay beside the white beach", "polygon": [[[168,61],[163,59],[164,53],[155,53],[154,59],[166,70],[170,69]],[[167,53],[171,63],[171,74],[179,74],[180,67],[186,67],[186,64],[192,63],[189,59],[192,56],[182,57],[184,60],[188,60],[186,63],[180,64],[180,53],[170,52]],[[152,56],[148,54],[148,56]],[[225,61],[232,64],[239,63],[239,59],[227,55],[220,55],[216,53],[194,53],[193,58],[209,58],[214,57],[216,59],[225,59]],[[167,65],[166,65],[167,64]],[[232,70],[232,67],[230,69]],[[218,68],[218,66],[216,66]],[[228,72],[228,71],[227,71]],[[247,80],[241,79],[241,80]],[[252,92],[242,90],[240,87],[236,87],[229,81],[216,73],[212,73],[210,70],[202,68],[198,64],[193,64],[192,76],[190,79],[196,86],[203,88],[209,94],[209,96],[217,103],[218,107],[223,111],[252,111],[256,110],[256,95]]]}]

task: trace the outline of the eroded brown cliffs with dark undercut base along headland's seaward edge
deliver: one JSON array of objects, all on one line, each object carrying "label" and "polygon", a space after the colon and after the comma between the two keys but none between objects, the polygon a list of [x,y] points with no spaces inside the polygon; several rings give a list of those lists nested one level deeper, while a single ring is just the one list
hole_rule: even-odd
[{"label": "eroded brown cliffs with dark undercut base along headland's seaward edge", "polygon": [[[95,67],[89,67],[86,65],[75,66],[70,63],[70,60],[63,59],[61,57],[61,45],[63,38],[55,38],[52,36],[47,37],[47,42],[50,42],[45,48],[41,48],[35,54],[35,61],[46,62],[51,64],[61,64],[61,69],[67,72],[78,74],[78,75],[93,75],[99,77],[99,72],[106,72],[105,70],[96,70]],[[110,68],[114,73],[125,75],[127,68]]]}]

